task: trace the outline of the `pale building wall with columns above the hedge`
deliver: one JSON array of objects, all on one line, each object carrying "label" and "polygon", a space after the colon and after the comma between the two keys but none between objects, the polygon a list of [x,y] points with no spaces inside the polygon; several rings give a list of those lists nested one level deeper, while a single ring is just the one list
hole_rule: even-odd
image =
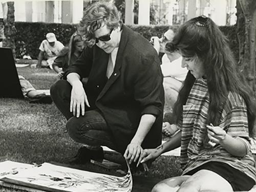
[{"label": "pale building wall with columns above the hedge", "polygon": [[[110,0],[105,0],[110,1]],[[114,0],[112,0],[114,1]],[[127,6],[135,0],[124,0]],[[206,15],[217,25],[236,23],[236,0],[137,0],[139,3],[139,24],[149,25],[150,9],[155,10],[155,23],[158,25],[181,24],[189,18]],[[16,0],[15,21],[78,23],[82,18],[84,5],[93,0]],[[150,6],[148,6],[150,4]],[[1,7],[2,8],[2,7]],[[0,18],[3,10],[0,8]],[[127,24],[132,24],[133,8],[125,9]],[[146,13],[146,14],[145,14]]]}]

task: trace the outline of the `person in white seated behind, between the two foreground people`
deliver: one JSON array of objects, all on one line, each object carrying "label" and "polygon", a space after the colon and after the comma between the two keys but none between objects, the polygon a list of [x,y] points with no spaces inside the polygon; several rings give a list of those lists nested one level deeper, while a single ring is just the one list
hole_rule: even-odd
[{"label": "person in white seated behind, between the two foreground people", "polygon": [[[156,36],[151,38],[157,53],[164,53],[161,70],[164,77],[163,87],[165,92],[165,108],[167,108],[168,111],[172,111],[173,106],[177,101],[179,90],[187,74],[187,69],[181,67],[182,57],[179,51],[170,45],[166,47],[166,43],[171,42],[174,35],[173,30],[169,29],[161,38]],[[169,115],[165,114],[165,118],[166,116]],[[172,122],[170,119],[164,119],[164,121],[167,122],[163,123],[163,133],[167,136],[173,135],[178,130],[176,125],[171,125],[169,123]]]}]

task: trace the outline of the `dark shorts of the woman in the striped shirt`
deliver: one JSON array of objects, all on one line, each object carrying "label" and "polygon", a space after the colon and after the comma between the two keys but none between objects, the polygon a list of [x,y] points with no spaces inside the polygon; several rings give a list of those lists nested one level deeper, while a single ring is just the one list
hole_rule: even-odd
[{"label": "dark shorts of the woman in the striped shirt", "polygon": [[234,169],[227,163],[218,161],[207,162],[199,167],[196,167],[194,170],[191,170],[185,175],[193,175],[200,170],[209,170],[217,173],[230,183],[234,191],[250,190],[253,185],[255,185],[255,181],[245,173]]}]

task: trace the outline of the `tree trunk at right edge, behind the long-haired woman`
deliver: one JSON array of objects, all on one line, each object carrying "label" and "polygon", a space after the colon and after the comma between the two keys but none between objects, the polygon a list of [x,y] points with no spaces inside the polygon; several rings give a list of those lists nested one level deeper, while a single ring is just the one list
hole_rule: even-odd
[{"label": "tree trunk at right edge, behind the long-haired woman", "polygon": [[237,0],[238,67],[255,93],[256,3]]}]

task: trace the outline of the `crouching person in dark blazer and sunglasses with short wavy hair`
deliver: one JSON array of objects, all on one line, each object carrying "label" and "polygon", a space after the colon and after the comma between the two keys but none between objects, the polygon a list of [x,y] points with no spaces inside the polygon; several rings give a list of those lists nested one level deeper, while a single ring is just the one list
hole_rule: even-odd
[{"label": "crouching person in dark blazer and sunglasses with short wavy hair", "polygon": [[[164,90],[158,55],[149,41],[122,23],[112,3],[89,6],[79,27],[87,47],[64,80],[51,87],[55,105],[68,119],[69,135],[84,145],[76,159],[102,161],[101,146],[107,146],[136,169],[142,150],[162,140]],[[88,78],[87,84],[82,78]]]}]

